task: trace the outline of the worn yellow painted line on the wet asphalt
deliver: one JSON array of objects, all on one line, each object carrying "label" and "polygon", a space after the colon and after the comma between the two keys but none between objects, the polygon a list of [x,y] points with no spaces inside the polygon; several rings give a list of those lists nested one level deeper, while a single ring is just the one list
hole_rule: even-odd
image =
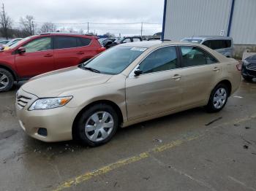
[{"label": "worn yellow painted line on the wet asphalt", "polygon": [[165,151],[167,149],[171,149],[173,147],[177,147],[177,146],[179,146],[181,144],[184,144],[187,141],[192,141],[192,140],[195,140],[195,139],[197,139],[199,137],[200,136],[189,136],[186,139],[178,139],[176,141],[171,141],[168,144],[164,144],[162,146],[155,147],[154,149],[150,149],[148,152],[142,152],[139,155],[135,155],[133,157],[129,157],[129,158],[124,159],[124,160],[118,160],[116,163],[112,163],[110,165],[105,165],[102,168],[99,168],[99,169],[97,169],[95,171],[90,171],[90,172],[88,172],[86,174],[82,174],[82,175],[77,176],[77,177],[75,177],[73,179],[70,179],[67,182],[63,182],[63,183],[61,183],[59,185],[59,187],[57,187],[53,191],[64,190],[66,188],[72,187],[73,185],[80,184],[81,182],[85,182],[86,180],[89,180],[89,179],[91,179],[91,178],[93,178],[95,176],[99,176],[101,174],[106,174],[109,171],[113,171],[116,168],[120,168],[120,167],[122,167],[124,165],[129,165],[130,163],[135,163],[135,162],[137,162],[139,160],[143,160],[144,158],[149,157],[149,155],[151,153],[163,152],[163,151]]}]

